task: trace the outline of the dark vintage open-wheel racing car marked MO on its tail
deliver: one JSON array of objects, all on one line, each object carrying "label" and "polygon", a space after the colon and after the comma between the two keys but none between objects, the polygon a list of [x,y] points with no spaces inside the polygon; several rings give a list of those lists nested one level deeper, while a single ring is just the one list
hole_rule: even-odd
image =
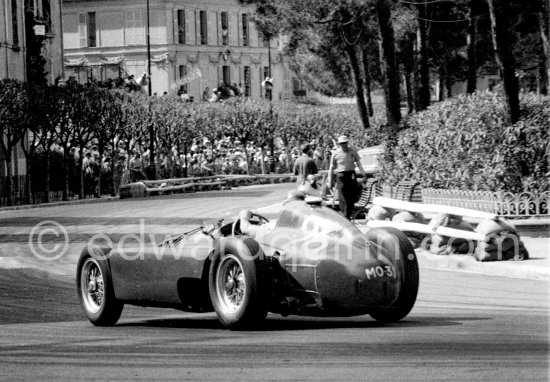
[{"label": "dark vintage open-wheel racing car marked MO on its tail", "polygon": [[283,316],[369,314],[404,318],[418,291],[418,263],[392,228],[363,234],[317,202],[287,200],[276,222],[242,211],[157,246],[86,248],[76,273],[88,319],[114,325],[124,304],[215,311],[225,327]]}]

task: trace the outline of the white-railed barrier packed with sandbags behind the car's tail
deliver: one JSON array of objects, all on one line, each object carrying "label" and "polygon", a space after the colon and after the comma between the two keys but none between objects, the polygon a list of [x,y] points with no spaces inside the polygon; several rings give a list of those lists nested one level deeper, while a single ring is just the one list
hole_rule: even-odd
[{"label": "white-railed barrier packed with sandbags behind the car's tail", "polygon": [[[463,253],[479,261],[529,257],[516,228],[494,213],[385,197],[375,197],[372,205],[367,227],[397,228],[409,237],[413,246],[434,254]],[[475,220],[478,222],[471,222]]]}]

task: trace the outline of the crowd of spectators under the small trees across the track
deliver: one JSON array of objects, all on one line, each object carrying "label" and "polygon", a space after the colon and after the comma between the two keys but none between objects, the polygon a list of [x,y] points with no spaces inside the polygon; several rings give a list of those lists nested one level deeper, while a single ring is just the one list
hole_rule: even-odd
[{"label": "crowd of spectators under the small trees across the track", "polygon": [[[131,149],[127,147],[130,146]],[[225,137],[214,142],[208,139],[195,139],[187,150],[181,152],[173,148],[171,152],[155,153],[154,171],[151,171],[148,142],[118,142],[116,152],[108,148],[100,153],[97,145],[90,144],[83,150],[82,173],[85,195],[116,195],[123,184],[141,180],[200,177],[229,174],[291,173],[295,161],[300,157],[300,145],[296,143],[288,150],[281,142],[276,142],[272,153],[268,146],[260,147],[253,143],[243,146],[240,142]],[[311,156],[319,170],[329,165],[330,146],[310,142]],[[70,167],[78,168],[78,148],[71,149]],[[248,155],[248,162],[247,162]],[[263,163],[262,163],[263,159]],[[249,165],[248,165],[249,163]],[[72,171],[71,183],[78,187],[79,174]],[[153,175],[154,174],[154,175]]]}]

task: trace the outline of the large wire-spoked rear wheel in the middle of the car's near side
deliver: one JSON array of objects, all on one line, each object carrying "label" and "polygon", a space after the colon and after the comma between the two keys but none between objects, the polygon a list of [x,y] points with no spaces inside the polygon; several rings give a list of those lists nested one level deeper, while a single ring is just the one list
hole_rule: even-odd
[{"label": "large wire-spoked rear wheel in the middle of the car's near side", "polygon": [[221,244],[209,270],[212,306],[226,328],[258,327],[267,315],[269,298],[263,252],[250,238],[230,238]]}]

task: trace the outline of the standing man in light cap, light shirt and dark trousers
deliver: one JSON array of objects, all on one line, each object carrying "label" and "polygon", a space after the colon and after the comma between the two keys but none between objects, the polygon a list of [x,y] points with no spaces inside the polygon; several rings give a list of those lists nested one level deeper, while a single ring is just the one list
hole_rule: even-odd
[{"label": "standing man in light cap, light shirt and dark trousers", "polygon": [[353,212],[353,205],[358,196],[357,175],[355,166],[359,168],[365,180],[365,171],[361,166],[361,159],[355,149],[349,147],[348,137],[341,135],[338,137],[339,148],[330,158],[330,167],[328,169],[328,184],[332,184],[333,173],[336,176],[336,188],[338,189],[338,201],[340,211],[350,219]]}]

